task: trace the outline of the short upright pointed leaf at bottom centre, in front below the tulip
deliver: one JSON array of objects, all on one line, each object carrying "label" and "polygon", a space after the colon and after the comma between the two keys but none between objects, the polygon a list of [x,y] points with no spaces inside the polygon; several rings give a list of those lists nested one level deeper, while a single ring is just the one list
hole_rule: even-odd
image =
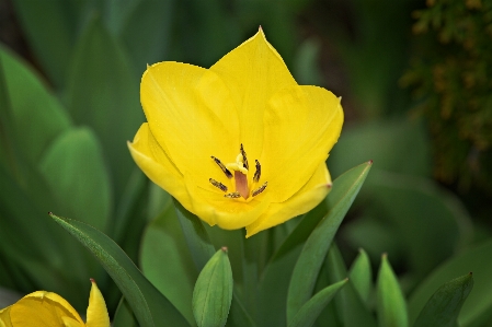
[{"label": "short upright pointed leaf at bottom centre, in front below the tulip", "polygon": [[227,248],[222,247],[205,265],[193,290],[193,315],[198,327],[226,325],[232,288],[232,269]]}]

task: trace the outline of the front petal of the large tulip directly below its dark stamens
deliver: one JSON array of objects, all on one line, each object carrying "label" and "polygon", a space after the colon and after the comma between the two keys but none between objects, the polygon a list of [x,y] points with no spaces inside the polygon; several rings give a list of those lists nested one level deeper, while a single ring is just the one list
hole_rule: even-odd
[{"label": "front petal of the large tulip directly below its dark stamens", "polygon": [[[254,222],[268,208],[268,196],[261,195],[256,199],[228,199],[224,192],[204,189],[188,176],[185,176],[192,200],[192,208],[186,208],[209,225],[218,225],[225,230],[244,227]],[[184,206],[183,206],[184,207]]]}]

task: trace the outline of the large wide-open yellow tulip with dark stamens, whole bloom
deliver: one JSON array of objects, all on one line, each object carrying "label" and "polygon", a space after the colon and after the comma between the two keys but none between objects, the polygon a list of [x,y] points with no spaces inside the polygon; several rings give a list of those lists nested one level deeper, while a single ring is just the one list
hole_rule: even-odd
[{"label": "large wide-open yellow tulip with dark stamens, whole bloom", "polygon": [[209,69],[159,62],[140,85],[137,165],[210,225],[247,236],[316,207],[339,139],[340,98],[296,83],[260,31]]}]

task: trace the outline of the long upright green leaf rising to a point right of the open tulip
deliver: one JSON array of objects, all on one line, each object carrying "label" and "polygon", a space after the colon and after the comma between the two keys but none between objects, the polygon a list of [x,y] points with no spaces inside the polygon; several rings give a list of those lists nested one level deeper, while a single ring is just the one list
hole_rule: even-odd
[{"label": "long upright green leaf rising to a point right of the open tulip", "polygon": [[[331,205],[329,205],[331,207],[329,213],[319,222],[302,247],[288,288],[287,320],[291,320],[300,307],[311,297],[318,273],[323,265],[331,242],[348,208],[357,196],[369,172],[371,162],[365,163],[362,166],[364,167],[363,170],[357,170],[358,167],[354,168],[359,174],[353,183],[347,183],[348,187],[343,189],[343,197],[341,199],[331,199],[334,202],[329,202]],[[333,189],[336,187],[334,183]],[[328,200],[331,201],[330,196]]]}]

